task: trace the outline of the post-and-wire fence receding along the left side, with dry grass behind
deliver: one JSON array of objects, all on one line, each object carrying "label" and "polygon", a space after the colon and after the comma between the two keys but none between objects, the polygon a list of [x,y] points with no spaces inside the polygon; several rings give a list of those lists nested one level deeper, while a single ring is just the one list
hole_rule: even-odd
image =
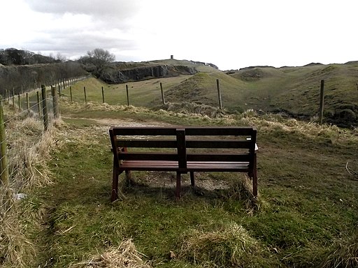
[{"label": "post-and-wire fence receding along the left side, with dry grass behind", "polygon": [[1,200],[16,199],[26,186],[37,184],[32,179],[34,172],[41,173],[41,168],[31,164],[32,159],[38,157],[31,148],[43,139],[59,117],[57,93],[83,79],[85,77],[73,78],[50,87],[41,85],[41,90],[17,96],[10,96],[7,91],[6,98],[1,98],[0,195],[7,196],[1,196]]}]

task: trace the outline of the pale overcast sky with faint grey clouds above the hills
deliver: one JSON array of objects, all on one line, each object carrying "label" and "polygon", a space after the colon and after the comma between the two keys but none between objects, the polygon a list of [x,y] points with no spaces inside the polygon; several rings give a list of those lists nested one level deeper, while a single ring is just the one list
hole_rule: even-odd
[{"label": "pale overcast sky with faint grey clouds above the hills", "polygon": [[220,70],[358,60],[357,0],[0,0],[0,48]]}]

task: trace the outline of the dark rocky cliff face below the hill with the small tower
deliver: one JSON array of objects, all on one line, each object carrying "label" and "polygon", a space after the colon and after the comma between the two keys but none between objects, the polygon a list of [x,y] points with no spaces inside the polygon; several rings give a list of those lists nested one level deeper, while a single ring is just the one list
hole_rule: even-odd
[{"label": "dark rocky cliff face below the hill with the small tower", "polygon": [[197,70],[188,66],[148,66],[119,70],[110,68],[106,70],[101,80],[108,84],[120,84],[128,81],[139,81],[155,77],[173,77],[178,75],[194,75]]}]

